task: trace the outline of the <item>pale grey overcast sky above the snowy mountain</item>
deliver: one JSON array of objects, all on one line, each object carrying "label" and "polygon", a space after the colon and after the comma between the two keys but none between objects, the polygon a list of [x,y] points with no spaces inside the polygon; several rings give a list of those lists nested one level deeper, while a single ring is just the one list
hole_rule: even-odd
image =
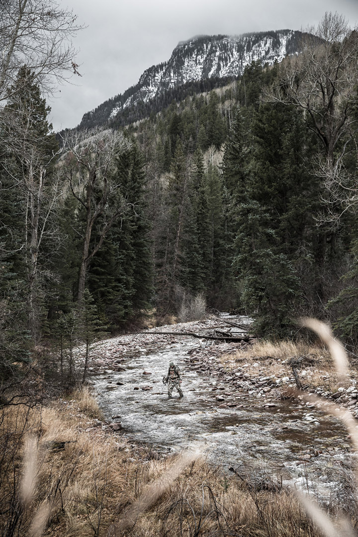
[{"label": "pale grey overcast sky above the snowy mountain", "polygon": [[169,60],[179,41],[194,35],[301,30],[325,11],[358,24],[358,0],[59,0],[86,26],[77,34],[82,77],[61,86],[50,118],[55,130],[75,127],[85,112],[138,82],[142,72]]}]

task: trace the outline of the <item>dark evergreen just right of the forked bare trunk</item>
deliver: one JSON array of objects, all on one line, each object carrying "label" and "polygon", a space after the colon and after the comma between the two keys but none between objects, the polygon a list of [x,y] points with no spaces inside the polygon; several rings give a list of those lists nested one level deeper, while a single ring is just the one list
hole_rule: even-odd
[{"label": "dark evergreen just right of the forked bare trunk", "polygon": [[136,143],[118,156],[116,182],[126,210],[113,225],[89,272],[91,293],[111,323],[146,309],[152,297],[149,223],[144,212],[145,176]]}]

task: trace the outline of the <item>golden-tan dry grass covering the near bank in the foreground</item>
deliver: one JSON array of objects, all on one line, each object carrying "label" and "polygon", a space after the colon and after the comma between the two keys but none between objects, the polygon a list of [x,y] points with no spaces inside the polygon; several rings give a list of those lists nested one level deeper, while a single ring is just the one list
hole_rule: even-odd
[{"label": "golden-tan dry grass covering the near bank in the foreground", "polygon": [[[293,349],[284,343],[279,352],[283,348]],[[358,449],[350,413],[313,400],[346,423]],[[96,426],[97,411],[87,389],[47,408],[18,404],[2,410],[1,535],[353,535],[347,520],[328,519],[309,498],[284,488],[258,491],[250,479],[225,475],[197,453],[150,460],[144,449]]]}]

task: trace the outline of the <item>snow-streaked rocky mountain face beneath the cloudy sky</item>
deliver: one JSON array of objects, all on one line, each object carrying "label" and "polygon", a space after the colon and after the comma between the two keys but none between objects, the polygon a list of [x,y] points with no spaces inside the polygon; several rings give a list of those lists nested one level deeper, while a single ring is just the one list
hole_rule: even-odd
[{"label": "snow-streaked rocky mountain face beneath the cloudy sky", "polygon": [[237,78],[254,60],[262,65],[280,62],[299,53],[301,37],[299,31],[278,30],[234,37],[203,35],[180,42],[168,61],[150,67],[135,86],[87,112],[79,127],[103,125],[121,114],[130,122],[131,108],[143,108],[174,88],[204,79]]}]

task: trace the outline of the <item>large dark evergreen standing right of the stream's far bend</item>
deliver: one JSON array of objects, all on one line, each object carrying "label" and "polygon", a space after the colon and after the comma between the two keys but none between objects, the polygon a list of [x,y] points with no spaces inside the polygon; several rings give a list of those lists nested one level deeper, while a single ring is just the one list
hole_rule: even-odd
[{"label": "large dark evergreen standing right of the stream's far bend", "polygon": [[237,206],[235,265],[242,300],[259,333],[290,331],[302,307],[302,265],[314,263],[317,185],[306,165],[308,144],[295,109],[262,105]]}]

